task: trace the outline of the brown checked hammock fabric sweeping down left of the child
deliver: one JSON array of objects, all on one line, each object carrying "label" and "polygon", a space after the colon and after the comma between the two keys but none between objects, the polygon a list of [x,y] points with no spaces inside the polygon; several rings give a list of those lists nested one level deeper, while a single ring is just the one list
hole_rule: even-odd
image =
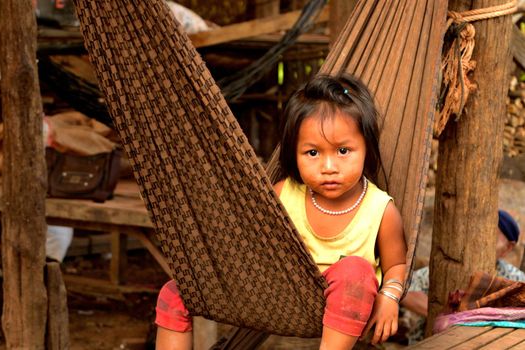
[{"label": "brown checked hammock fabric sweeping down left of the child", "polygon": [[186,307],[223,323],[319,335],[325,282],[164,1],[75,4]]}]

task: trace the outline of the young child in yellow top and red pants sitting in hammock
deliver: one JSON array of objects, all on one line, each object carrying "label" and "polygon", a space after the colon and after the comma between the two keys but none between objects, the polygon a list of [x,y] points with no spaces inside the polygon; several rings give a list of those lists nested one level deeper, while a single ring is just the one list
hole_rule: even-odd
[{"label": "young child in yellow top and red pants sitting in hammock", "polygon": [[[373,326],[374,344],[397,331],[406,244],[392,198],[373,184],[377,115],[351,76],[314,78],[285,110],[286,179],[274,188],[328,282],[321,349],[350,349]],[[173,281],[159,294],[156,323],[158,349],[191,348],[191,317]]]}]

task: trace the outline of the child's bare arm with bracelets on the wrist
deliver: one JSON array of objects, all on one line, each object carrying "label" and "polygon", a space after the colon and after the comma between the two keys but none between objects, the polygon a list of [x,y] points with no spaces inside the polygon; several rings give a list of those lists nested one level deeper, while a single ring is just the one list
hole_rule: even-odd
[{"label": "child's bare arm with bracelets on the wrist", "polygon": [[[407,248],[403,223],[399,210],[392,202],[387,205],[383,214],[377,236],[377,246],[381,259],[381,270],[383,271],[383,287],[381,289],[386,295],[377,294],[372,315],[363,331],[364,336],[375,325],[372,344],[382,343],[390,335],[397,332],[399,304],[392,298],[392,295],[399,299],[402,291],[398,290],[401,289],[401,286],[397,282],[389,281],[404,283],[405,278]],[[387,286],[392,287],[387,288]]]}]

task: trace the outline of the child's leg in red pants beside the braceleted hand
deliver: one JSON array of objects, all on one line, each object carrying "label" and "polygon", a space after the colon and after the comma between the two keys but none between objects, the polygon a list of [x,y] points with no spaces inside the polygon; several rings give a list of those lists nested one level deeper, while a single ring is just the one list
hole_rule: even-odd
[{"label": "child's leg in red pants beside the braceleted hand", "polygon": [[377,295],[377,278],[372,265],[349,256],[324,273],[328,288],[324,294],[321,349],[350,349],[368,322]]}]

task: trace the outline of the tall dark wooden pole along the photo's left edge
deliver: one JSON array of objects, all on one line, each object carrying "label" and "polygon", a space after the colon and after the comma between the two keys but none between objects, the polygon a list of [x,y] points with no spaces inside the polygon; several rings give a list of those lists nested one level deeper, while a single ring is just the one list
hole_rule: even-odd
[{"label": "tall dark wooden pole along the photo's left edge", "polygon": [[8,349],[44,349],[46,174],[42,104],[31,0],[0,1],[2,169],[2,327]]}]

